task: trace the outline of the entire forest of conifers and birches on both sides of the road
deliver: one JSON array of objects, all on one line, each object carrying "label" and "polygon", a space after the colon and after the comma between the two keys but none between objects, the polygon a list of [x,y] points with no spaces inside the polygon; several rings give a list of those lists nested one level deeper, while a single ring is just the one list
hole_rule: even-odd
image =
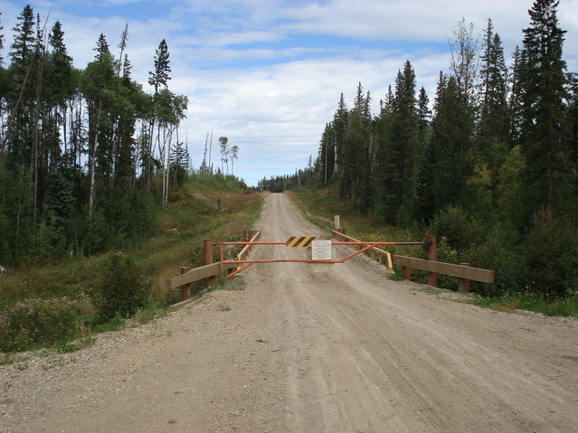
[{"label": "entire forest of conifers and birches on both sides of the road", "polygon": [[[435,95],[417,89],[411,61],[376,115],[361,82],[350,107],[336,95],[317,156],[257,189],[331,189],[378,226],[436,235],[448,260],[496,270],[495,285],[474,287],[483,295],[576,297],[578,80],[558,2],[528,13],[508,61],[491,19],[480,37],[462,19]],[[0,35],[0,263],[137,245],[192,171],[166,41],[151,52],[147,93],[131,78],[128,26],[114,47],[100,34],[84,69],[62,24],[45,29],[30,6],[13,31],[13,42]],[[233,173],[239,149],[219,144]],[[210,165],[205,149],[199,173]]]}]

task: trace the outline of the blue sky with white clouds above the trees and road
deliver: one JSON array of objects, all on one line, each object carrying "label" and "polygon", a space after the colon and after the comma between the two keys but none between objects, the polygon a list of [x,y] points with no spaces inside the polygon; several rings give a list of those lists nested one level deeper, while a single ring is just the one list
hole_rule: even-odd
[{"label": "blue sky with white clouds above the trees and road", "polygon": [[[340,94],[351,105],[358,82],[373,111],[409,60],[418,89],[434,98],[448,72],[448,40],[463,18],[480,36],[488,18],[507,59],[521,45],[533,0],[0,0],[6,59],[11,29],[24,5],[48,27],[62,23],[77,68],[94,58],[104,33],[111,51],[128,24],[133,78],[147,87],[155,50],[166,39],[169,89],[189,99],[181,128],[195,167],[207,133],[240,148],[236,175],[247,184],[291,174],[317,155],[319,138]],[[578,0],[561,0],[564,58],[578,71]],[[213,161],[220,156],[213,151]]]}]

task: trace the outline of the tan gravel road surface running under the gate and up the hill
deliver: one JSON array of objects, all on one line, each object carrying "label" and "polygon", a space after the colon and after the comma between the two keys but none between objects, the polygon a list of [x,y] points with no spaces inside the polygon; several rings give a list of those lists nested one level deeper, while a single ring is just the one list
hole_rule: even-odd
[{"label": "tan gravel road surface running under the gate and up the hill", "polygon": [[[328,237],[283,194],[258,228]],[[81,352],[0,366],[0,432],[578,431],[575,320],[440,299],[363,258],[243,274]]]}]

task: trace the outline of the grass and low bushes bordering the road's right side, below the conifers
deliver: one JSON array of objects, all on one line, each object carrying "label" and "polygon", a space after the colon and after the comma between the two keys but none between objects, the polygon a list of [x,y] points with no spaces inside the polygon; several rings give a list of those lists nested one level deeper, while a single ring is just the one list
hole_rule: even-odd
[{"label": "grass and low bushes bordering the road's right side, below the conifers", "polygon": [[[524,275],[525,269],[531,265],[529,260],[533,256],[523,254],[511,254],[511,247],[507,242],[499,244],[491,236],[483,236],[479,232],[479,237],[474,237],[470,233],[476,231],[475,226],[461,221],[456,215],[448,217],[441,214],[439,218],[434,218],[429,225],[414,225],[412,227],[400,228],[387,224],[376,223],[370,216],[364,216],[357,212],[351,203],[340,202],[336,197],[336,188],[323,188],[309,185],[307,189],[298,188],[298,192],[288,191],[290,199],[298,205],[308,221],[314,223],[327,233],[334,227],[334,216],[339,215],[341,225],[346,229],[347,234],[360,240],[374,241],[422,241],[426,240],[428,234],[441,235],[438,238],[438,259],[447,263],[471,263],[477,268],[488,268],[496,270],[496,283],[485,284],[476,281],[470,282],[470,291],[478,294],[467,301],[476,306],[492,308],[498,311],[515,312],[516,310],[526,310],[544,315],[561,315],[578,317],[578,293],[577,286],[569,287],[569,294],[566,297],[552,297],[548,292],[540,290],[542,287],[535,280],[534,276],[542,276],[542,284],[547,284],[545,278],[551,278],[553,282],[564,278],[565,272],[568,276],[573,276],[575,269],[570,268],[571,261],[557,262],[557,268],[539,268],[535,272]],[[572,240],[572,234],[568,232],[555,235],[555,227],[541,229],[548,231],[547,239],[542,239],[542,245],[535,245],[536,250],[548,254],[552,260],[555,259],[555,251],[571,249],[568,245]],[[464,238],[471,236],[478,239],[478,242],[471,240],[468,248],[456,248],[452,237]],[[539,249],[538,249],[539,247]],[[393,255],[411,254],[413,257],[426,259],[427,253],[419,246],[396,246],[383,247]],[[551,249],[549,252],[546,249]],[[403,280],[401,268],[394,268],[395,272],[390,276],[392,279]],[[550,274],[548,274],[550,272]],[[519,278],[508,279],[511,273],[516,273]],[[526,278],[525,278],[526,277]],[[426,284],[427,274],[419,270],[412,271],[412,280]],[[526,281],[526,284],[519,284],[516,281]],[[460,289],[459,278],[438,275],[438,284],[442,289],[458,291]]]}]

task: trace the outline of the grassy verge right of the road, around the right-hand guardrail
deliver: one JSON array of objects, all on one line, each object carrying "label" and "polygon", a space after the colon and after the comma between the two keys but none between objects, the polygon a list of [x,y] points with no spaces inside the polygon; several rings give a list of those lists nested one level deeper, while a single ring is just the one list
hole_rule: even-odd
[{"label": "grassy verge right of the road, around the right-hand guardrail", "polygon": [[[327,232],[327,236],[334,227],[334,215],[339,215],[342,227],[346,228],[347,234],[359,240],[374,241],[422,241],[427,237],[427,228],[402,230],[392,226],[375,224],[369,217],[364,217],[355,211],[355,208],[346,202],[336,199],[336,191],[333,189],[307,189],[299,193],[288,192],[289,197],[304,213],[308,221],[316,224]],[[426,253],[421,247],[384,247],[393,255],[412,254],[414,257],[426,258]],[[440,261],[457,263],[451,260],[451,254],[439,250]],[[399,270],[391,278],[403,278]],[[412,278],[420,283],[427,281],[424,272],[414,271]],[[438,276],[441,287],[457,290],[458,278]],[[544,315],[578,316],[578,297],[555,302],[547,302],[544,297],[528,293],[525,287],[513,287],[508,293],[497,294],[492,297],[479,297],[463,302],[469,302],[477,306],[492,308],[498,311],[516,312],[517,310],[532,311]],[[426,289],[426,288],[424,288]]]}]

